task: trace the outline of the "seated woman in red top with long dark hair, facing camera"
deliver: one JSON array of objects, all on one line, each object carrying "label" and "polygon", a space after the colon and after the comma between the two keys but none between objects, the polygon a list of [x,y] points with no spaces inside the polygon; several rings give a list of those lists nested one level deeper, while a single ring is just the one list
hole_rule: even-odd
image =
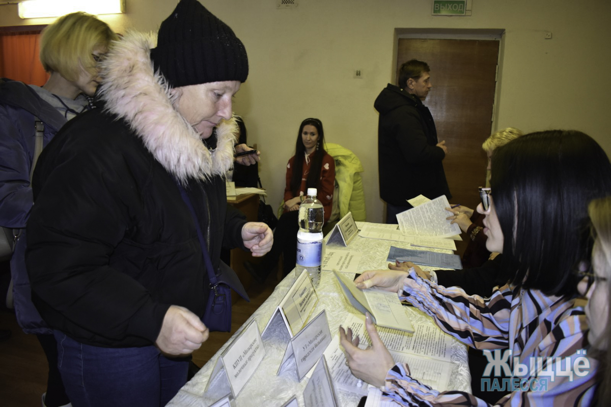
[{"label": "seated woman in red top with long dark hair, facing camera", "polygon": [[301,122],[295,156],[288,160],[287,186],[284,189],[284,213],[274,231],[274,246],[260,264],[244,263],[244,266],[259,283],[263,283],[269,272],[283,254],[283,275],[295,268],[297,218],[299,205],[307,196],[308,188],[316,188],[316,198],[323,204],[324,222],[329,221],[335,187],[335,161],[324,149],[323,123],[317,118]]}]

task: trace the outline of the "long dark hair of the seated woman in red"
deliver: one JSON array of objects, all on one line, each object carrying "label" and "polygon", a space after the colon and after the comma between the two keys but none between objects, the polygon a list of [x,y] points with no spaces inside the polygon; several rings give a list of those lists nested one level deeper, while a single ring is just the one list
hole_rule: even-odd
[{"label": "long dark hair of the seated woman in red", "polygon": [[301,122],[299,126],[299,133],[297,134],[297,143],[295,144],[295,160],[293,161],[293,176],[291,177],[291,192],[293,196],[299,195],[299,187],[301,187],[301,175],[303,172],[303,157],[305,154],[305,146],[301,139],[301,133],[304,127],[310,124],[318,131],[318,140],[316,142],[316,150],[312,157],[312,164],[310,165],[310,173],[307,176],[305,182],[306,188],[318,189],[320,185],[320,170],[323,166],[323,156],[326,153],[324,149],[324,131],[323,123],[316,118],[307,118]]}]

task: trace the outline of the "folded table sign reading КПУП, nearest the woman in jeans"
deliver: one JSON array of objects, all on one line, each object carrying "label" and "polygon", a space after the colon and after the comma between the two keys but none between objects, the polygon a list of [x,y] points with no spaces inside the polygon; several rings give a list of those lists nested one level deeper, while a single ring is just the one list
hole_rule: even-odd
[{"label": "folded table sign reading \u041a\u041f\u0423\u041f, nearest the woman in jeans", "polygon": [[208,392],[210,383],[216,382],[215,378],[219,375],[220,388],[229,385],[232,396],[238,397],[264,356],[265,347],[257,321],[252,320],[217,359],[204,392]]}]

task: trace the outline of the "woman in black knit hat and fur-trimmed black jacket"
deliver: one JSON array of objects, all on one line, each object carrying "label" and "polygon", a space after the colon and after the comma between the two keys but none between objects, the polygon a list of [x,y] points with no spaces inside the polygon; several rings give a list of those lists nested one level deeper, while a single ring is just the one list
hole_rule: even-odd
[{"label": "woman in black knit hat and fur-trimmed black jacket", "polygon": [[208,338],[204,252],[218,270],[221,246],[269,251],[268,226],[225,197],[232,96],[247,74],[232,29],[181,0],[158,35],[116,43],[101,63],[103,109],[40,157],[26,262],[73,405],[165,405]]}]

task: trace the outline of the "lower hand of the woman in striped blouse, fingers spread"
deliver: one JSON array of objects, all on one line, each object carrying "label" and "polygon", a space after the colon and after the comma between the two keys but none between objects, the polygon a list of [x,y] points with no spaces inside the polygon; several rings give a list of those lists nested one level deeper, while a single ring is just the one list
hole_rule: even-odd
[{"label": "lower hand of the woman in striped blouse, fingers spread", "polygon": [[370,315],[365,314],[365,327],[371,339],[371,347],[359,349],[359,337],[354,337],[352,331],[346,331],[340,326],[340,344],[346,350],[346,361],[351,372],[357,378],[373,386],[384,386],[386,373],[395,362],[390,352],[378,336],[378,331],[371,321]]}]

